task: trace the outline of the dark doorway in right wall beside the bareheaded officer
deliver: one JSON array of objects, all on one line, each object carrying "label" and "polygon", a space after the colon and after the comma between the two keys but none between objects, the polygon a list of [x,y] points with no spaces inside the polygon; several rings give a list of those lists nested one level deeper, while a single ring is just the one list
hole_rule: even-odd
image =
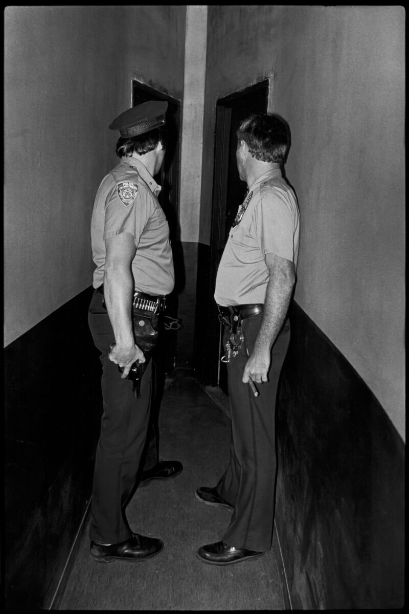
[{"label": "dark doorway in right wall beside the bareheaded officer", "polygon": [[202,383],[219,386],[227,393],[227,367],[220,361],[223,354],[223,327],[218,324],[218,311],[213,298],[216,274],[226,245],[229,230],[240,204],[245,199],[247,184],[240,180],[235,151],[236,131],[252,113],[267,113],[269,80],[220,98],[216,103],[215,171],[213,176],[212,230],[210,235],[210,271],[206,351],[202,365]]}]

